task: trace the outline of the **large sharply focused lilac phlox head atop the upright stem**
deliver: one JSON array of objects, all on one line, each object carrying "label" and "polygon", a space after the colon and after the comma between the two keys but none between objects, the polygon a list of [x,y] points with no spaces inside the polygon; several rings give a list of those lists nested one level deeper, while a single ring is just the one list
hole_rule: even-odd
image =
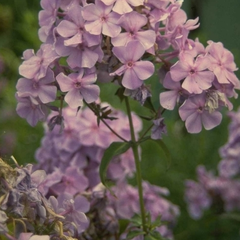
[{"label": "large sharply focused lilac phlox head atop the upright stem", "polygon": [[[231,52],[188,38],[199,26],[177,0],[41,0],[40,49],[26,50],[19,67],[17,112],[35,126],[64,96],[73,109],[95,102],[98,82],[114,82],[144,103],[155,72],[164,109],[179,107],[190,133],[220,124],[223,106],[240,88]],[[155,67],[159,69],[155,70]],[[58,96],[57,96],[58,95]],[[156,117],[157,118],[157,117]]]}]

